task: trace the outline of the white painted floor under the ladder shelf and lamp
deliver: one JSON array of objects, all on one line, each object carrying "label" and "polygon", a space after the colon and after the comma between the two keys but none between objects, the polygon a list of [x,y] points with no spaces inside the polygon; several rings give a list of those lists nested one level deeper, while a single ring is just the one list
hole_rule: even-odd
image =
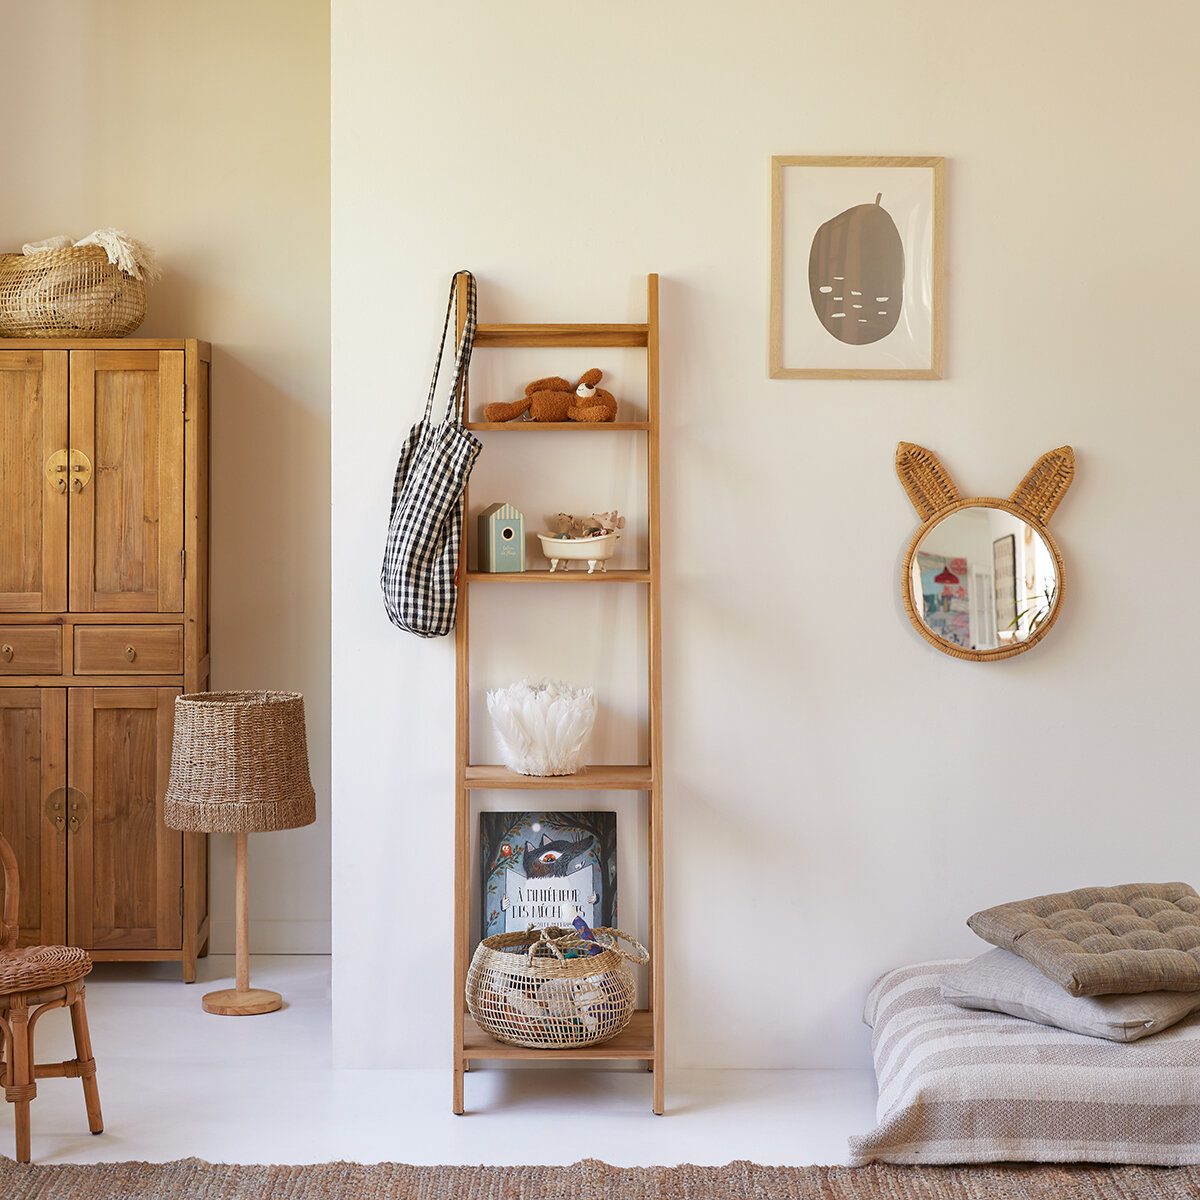
[{"label": "white painted floor under the ladder shelf and lamp", "polygon": [[[104,1133],[88,1133],[77,1080],[42,1080],[34,1162],[840,1163],[847,1135],[875,1124],[875,1080],[860,1070],[673,1070],[662,1117],[642,1070],[472,1070],[456,1117],[449,1068],[332,1069],[328,958],[252,959],[252,984],[286,1000],[252,1018],[200,1008],[203,991],[232,985],[232,958],[199,970],[184,986],[178,966],[97,965],[88,1014]],[[72,1055],[65,1014],[41,1020],[37,1054]],[[0,1153],[12,1150],[0,1103]]]}]

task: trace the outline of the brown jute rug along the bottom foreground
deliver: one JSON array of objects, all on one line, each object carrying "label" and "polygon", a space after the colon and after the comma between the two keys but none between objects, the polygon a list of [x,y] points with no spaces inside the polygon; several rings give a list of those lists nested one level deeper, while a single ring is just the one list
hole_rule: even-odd
[{"label": "brown jute rug along the bottom foreground", "polygon": [[1200,1166],[314,1166],[0,1159],[4,1200],[1196,1200]]}]

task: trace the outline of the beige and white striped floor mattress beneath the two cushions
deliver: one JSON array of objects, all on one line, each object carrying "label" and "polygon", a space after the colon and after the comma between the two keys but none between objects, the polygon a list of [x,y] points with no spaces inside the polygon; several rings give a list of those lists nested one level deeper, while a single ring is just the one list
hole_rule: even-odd
[{"label": "beige and white striped floor mattress beneath the two cushions", "polygon": [[1200,1013],[1117,1043],[956,1008],[942,974],[883,976],[866,998],[878,1126],[851,1163],[1200,1163]]}]

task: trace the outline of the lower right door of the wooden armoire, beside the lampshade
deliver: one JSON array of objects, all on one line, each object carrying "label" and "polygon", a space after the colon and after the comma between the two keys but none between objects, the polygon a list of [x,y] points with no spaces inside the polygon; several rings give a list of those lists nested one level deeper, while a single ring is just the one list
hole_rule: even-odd
[{"label": "lower right door of the wooden armoire, beside the lampshade", "polygon": [[[162,820],[178,688],[72,688],[68,841],[71,943],[181,944],[182,834]],[[77,800],[76,796],[80,799]]]}]

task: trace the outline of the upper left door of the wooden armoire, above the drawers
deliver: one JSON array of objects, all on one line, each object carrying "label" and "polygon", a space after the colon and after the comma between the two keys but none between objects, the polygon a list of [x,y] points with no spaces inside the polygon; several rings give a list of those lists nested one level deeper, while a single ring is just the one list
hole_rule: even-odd
[{"label": "upper left door of the wooden armoire, above the drawers", "polygon": [[46,475],[66,449],[67,352],[0,350],[0,612],[66,610],[67,497]]}]

